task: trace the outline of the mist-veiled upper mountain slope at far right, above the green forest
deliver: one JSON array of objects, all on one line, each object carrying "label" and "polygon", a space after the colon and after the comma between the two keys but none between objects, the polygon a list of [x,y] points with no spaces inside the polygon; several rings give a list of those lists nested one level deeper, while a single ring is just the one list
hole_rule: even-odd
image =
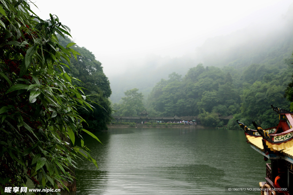
[{"label": "mist-veiled upper mountain slope at far right, above the green forest", "polygon": [[243,68],[250,64],[280,61],[292,54],[292,11],[267,24],[252,24],[226,36],[209,38],[196,55],[205,66]]}]

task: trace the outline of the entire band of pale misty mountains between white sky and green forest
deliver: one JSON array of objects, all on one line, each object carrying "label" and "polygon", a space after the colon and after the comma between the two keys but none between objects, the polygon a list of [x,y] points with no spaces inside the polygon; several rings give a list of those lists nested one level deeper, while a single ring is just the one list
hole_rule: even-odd
[{"label": "entire band of pale misty mountains between white sky and green forest", "polygon": [[[129,61],[125,73],[109,76],[113,103],[118,102],[124,92],[138,88],[145,98],[161,78],[172,72],[185,75],[187,71],[202,63],[204,66],[234,67],[243,70],[251,64],[285,65],[293,51],[293,6],[282,18],[273,18],[264,23],[251,23],[246,28],[228,35],[207,39],[195,51],[181,57],[171,58],[149,55],[144,59]],[[233,75],[233,74],[232,74]]]}]

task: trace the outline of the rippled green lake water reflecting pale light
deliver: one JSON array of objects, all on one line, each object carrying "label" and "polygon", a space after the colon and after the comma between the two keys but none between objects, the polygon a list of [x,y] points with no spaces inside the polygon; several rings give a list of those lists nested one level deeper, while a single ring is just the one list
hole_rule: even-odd
[{"label": "rippled green lake water reflecting pale light", "polygon": [[225,187],[259,187],[263,156],[243,131],[126,128],[83,135],[99,169],[78,160],[77,195],[260,194]]}]

